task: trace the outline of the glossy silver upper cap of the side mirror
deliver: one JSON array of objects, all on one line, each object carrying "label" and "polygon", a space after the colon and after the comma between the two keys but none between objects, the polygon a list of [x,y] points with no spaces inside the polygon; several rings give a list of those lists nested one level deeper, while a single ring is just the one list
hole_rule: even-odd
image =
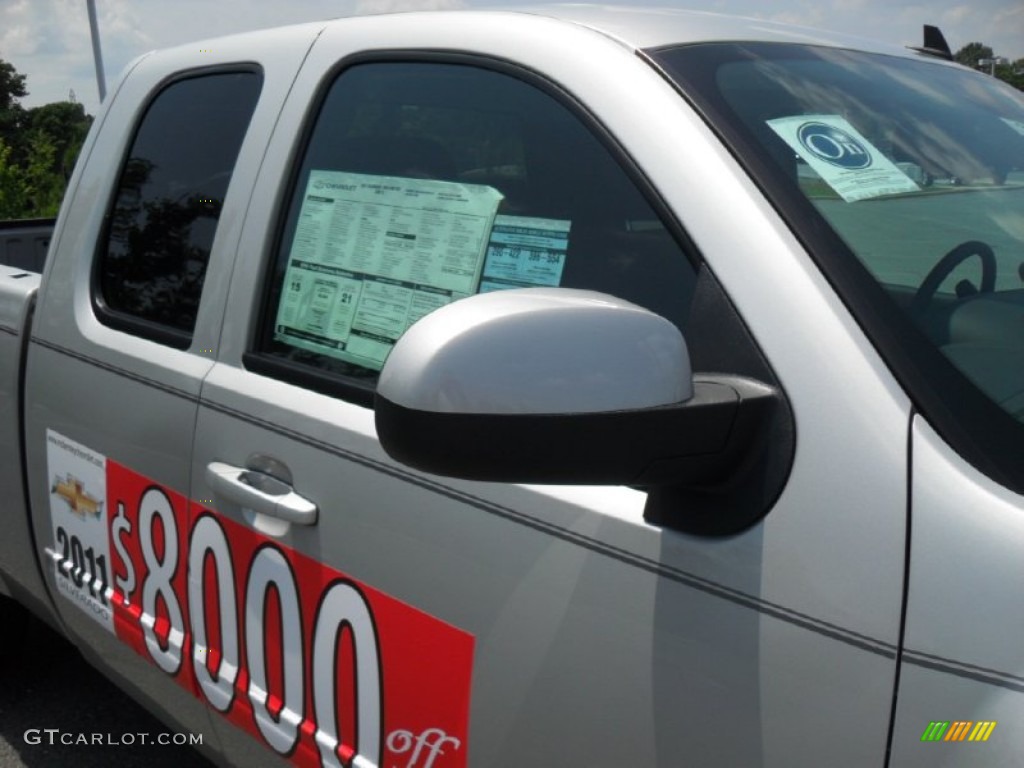
[{"label": "glossy silver upper cap of the side mirror", "polygon": [[693,395],[669,321],[593,291],[524,288],[441,307],[395,344],[377,392],[418,411],[584,414]]}]

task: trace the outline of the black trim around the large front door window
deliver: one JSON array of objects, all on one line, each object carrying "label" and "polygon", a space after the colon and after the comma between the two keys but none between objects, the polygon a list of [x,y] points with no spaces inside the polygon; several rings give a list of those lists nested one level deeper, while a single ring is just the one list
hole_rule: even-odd
[{"label": "black trim around the large front door window", "polygon": [[249,349],[242,355],[243,366],[248,371],[295,384],[321,394],[353,402],[366,408],[373,408],[376,382],[369,384],[343,374],[321,371],[301,362],[284,359],[267,351],[272,340],[271,323],[268,322],[273,299],[273,273],[281,254],[286,222],[290,213],[292,200],[295,196],[299,172],[305,153],[317,120],[334,84],[344,73],[353,67],[367,63],[426,63],[455,65],[470,67],[475,70],[497,73],[512,77],[527,86],[536,88],[552,98],[562,109],[568,111],[583,127],[590,131],[597,142],[609,154],[611,160],[626,174],[637,191],[658,216],[666,230],[679,247],[684,258],[696,274],[703,259],[692,239],[686,233],[678,218],[672,212],[654,185],[643,174],[640,167],[626,152],[626,148],[614,137],[612,132],[580,101],[572,93],[551,80],[544,74],[527,68],[519,62],[487,54],[467,53],[456,50],[422,50],[422,49],[385,49],[359,51],[338,60],[330,68],[316,86],[309,106],[303,118],[302,127],[298,132],[289,155],[289,175],[282,186],[278,199],[273,237],[267,239],[268,248],[264,253],[263,274],[260,281],[259,301],[252,315],[250,328]]}]

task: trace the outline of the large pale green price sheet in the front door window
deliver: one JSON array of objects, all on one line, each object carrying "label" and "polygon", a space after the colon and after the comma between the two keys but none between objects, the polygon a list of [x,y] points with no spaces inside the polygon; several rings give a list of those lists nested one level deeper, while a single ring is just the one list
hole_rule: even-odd
[{"label": "large pale green price sheet in the front door window", "polygon": [[311,171],[274,339],[379,371],[423,315],[473,294],[492,186]]}]

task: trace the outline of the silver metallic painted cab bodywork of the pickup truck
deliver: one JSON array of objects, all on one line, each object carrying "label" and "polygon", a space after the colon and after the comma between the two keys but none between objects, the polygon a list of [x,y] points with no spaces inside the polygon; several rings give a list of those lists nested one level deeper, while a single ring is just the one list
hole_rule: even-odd
[{"label": "silver metallic painted cab bodywork of the pickup truck", "polygon": [[[859,42],[701,14],[543,11],[552,12],[568,23],[407,14],[204,44],[214,53],[202,62],[257,61],[266,80],[184,352],[100,326],[87,296],[112,159],[128,140],[118,126],[131,124],[163,77],[200,63],[199,46],[137,62],[96,121],[47,266],[29,368],[36,525],[48,530],[46,427],[193,498],[210,496],[210,461],[241,466],[259,451],[286,463],[296,489],[322,510],[317,526],[281,534],[290,546],[476,635],[474,765],[881,765],[901,607],[909,402],[771,204],[632,47]],[[638,490],[439,481],[384,456],[369,410],[243,369],[282,179],[309,100],[348,53],[400,49],[477,53],[543,73],[600,119],[676,212],[794,409],[793,473],[761,523],[703,541],[647,524]],[[8,337],[0,334],[5,362]],[[203,348],[215,349],[213,358]],[[195,444],[182,429],[191,423]],[[959,717],[962,695],[991,705],[992,719],[1020,712],[1018,689],[957,669],[994,670],[1011,682],[1024,669],[1013,607],[1021,499],[965,469],[925,425],[913,441],[914,554],[893,766],[925,764],[907,745],[927,725],[919,720]],[[218,511],[244,519],[223,501]],[[129,677],[137,694],[160,699],[164,717],[215,729],[237,764],[270,759],[73,611],[61,605],[80,647]],[[947,669],[928,666],[933,656],[949,659]],[[943,712],[929,709],[940,705]],[[950,760],[970,759],[959,755]]]}]

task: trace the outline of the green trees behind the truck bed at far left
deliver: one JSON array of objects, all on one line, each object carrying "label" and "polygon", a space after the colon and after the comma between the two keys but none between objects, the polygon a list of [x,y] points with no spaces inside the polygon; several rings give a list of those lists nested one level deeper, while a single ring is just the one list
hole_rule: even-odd
[{"label": "green trees behind the truck bed at far left", "polygon": [[72,101],[24,109],[25,80],[0,58],[0,219],[56,215],[92,123]]}]

